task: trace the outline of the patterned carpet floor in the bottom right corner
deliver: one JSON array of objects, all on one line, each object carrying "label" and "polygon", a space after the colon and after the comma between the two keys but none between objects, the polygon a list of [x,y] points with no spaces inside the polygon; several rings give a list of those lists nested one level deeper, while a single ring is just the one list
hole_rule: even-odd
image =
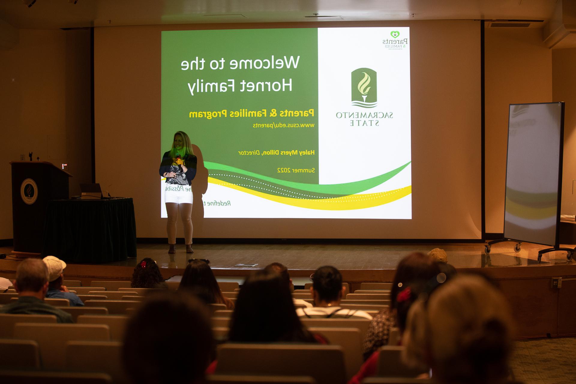
[{"label": "patterned carpet floor in the bottom right corner", "polygon": [[532,383],[576,383],[576,338],[516,341],[511,367],[516,380]]}]

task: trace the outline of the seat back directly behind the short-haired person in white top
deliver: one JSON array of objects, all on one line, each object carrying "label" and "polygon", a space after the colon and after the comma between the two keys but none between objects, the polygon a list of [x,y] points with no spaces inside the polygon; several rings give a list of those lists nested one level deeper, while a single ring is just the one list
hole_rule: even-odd
[{"label": "seat back directly behind the short-haired person in white top", "polygon": [[362,366],[362,335],[358,328],[310,327],[312,333],[324,336],[330,345],[340,345],[346,364],[346,381]]}]

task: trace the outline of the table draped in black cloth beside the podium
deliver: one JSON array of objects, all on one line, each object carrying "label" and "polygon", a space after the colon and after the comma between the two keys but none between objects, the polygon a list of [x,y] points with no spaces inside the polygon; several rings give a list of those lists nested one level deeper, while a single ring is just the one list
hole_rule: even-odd
[{"label": "table draped in black cloth beside the podium", "polygon": [[136,257],[131,198],[48,201],[43,255],[67,263],[109,263]]}]

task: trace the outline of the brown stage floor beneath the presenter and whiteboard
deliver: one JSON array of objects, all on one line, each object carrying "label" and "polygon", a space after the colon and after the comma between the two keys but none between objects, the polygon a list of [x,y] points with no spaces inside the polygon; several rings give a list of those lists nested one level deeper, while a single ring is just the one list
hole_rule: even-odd
[{"label": "brown stage floor beneath the presenter and whiteboard", "polygon": [[[484,253],[483,243],[462,244],[195,244],[194,254],[187,254],[183,244],[176,245],[176,254],[168,254],[166,244],[138,244],[137,258],[99,265],[134,267],[139,260],[150,257],[161,268],[183,269],[189,258],[206,258],[213,269],[261,269],[278,261],[291,270],[314,270],[321,265],[334,265],[338,269],[395,269],[400,259],[410,252],[429,252],[442,248],[448,254],[448,263],[456,268],[521,267],[573,264],[566,252],[545,253],[537,262],[538,251],[546,246],[524,243],[518,253],[514,242],[492,246]],[[566,245],[573,247],[574,245]],[[0,253],[13,258],[12,249],[0,248]],[[256,264],[240,267],[238,264]]]}]

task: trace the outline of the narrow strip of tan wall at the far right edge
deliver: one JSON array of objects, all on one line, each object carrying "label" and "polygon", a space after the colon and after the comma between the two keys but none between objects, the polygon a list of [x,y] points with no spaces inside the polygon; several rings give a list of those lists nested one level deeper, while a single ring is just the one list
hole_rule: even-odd
[{"label": "narrow strip of tan wall at the far right edge", "polygon": [[562,172],[562,214],[576,214],[576,48],[552,50],[552,94],[554,101],[566,102],[564,115],[564,161]]}]

